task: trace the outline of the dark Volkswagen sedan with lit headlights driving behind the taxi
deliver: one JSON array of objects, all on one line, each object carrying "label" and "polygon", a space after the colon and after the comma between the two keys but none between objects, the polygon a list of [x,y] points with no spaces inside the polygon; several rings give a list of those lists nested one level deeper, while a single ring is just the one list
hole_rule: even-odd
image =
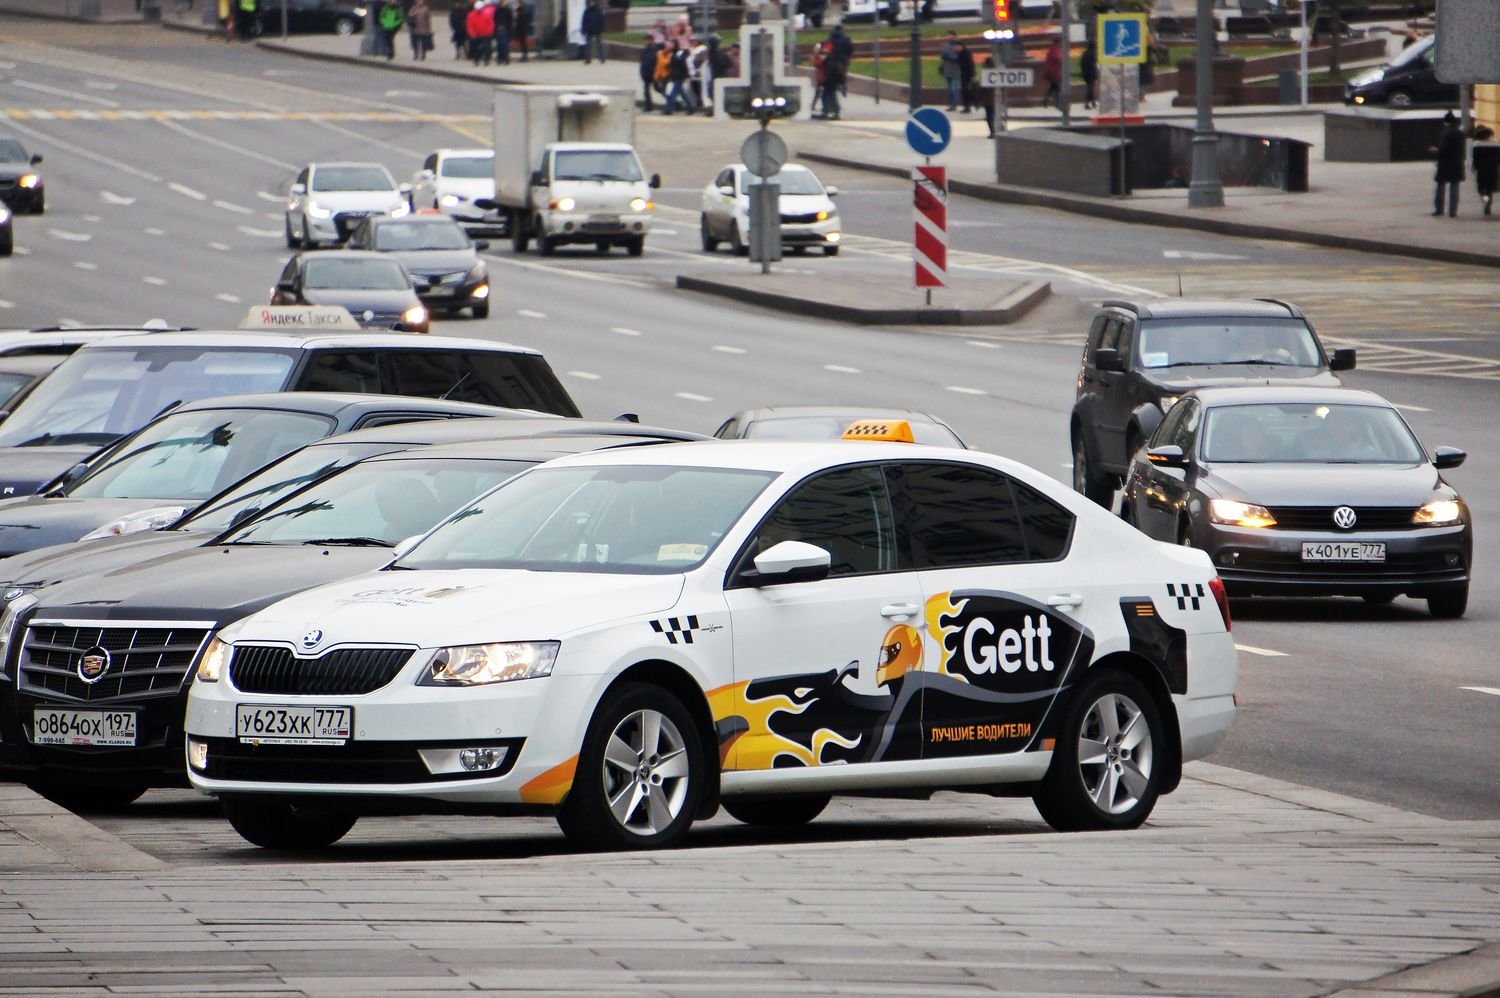
[{"label": "dark Volkswagen sedan with lit headlights driving behind the taxi", "polygon": [[1208,551],[1234,596],[1407,594],[1462,617],[1473,536],[1442,471],[1464,456],[1428,456],[1371,392],[1200,390],[1136,455],[1122,516]]}]

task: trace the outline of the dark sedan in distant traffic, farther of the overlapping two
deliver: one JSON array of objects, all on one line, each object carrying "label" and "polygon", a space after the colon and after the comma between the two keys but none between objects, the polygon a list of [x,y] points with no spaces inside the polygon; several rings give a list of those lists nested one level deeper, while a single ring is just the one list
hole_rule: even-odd
[{"label": "dark sedan in distant traffic, farther of the overlapping two", "polygon": [[489,269],[478,258],[478,251],[489,243],[471,243],[468,233],[447,215],[368,218],[354,228],[345,246],[399,260],[417,281],[417,297],[429,311],[470,309],[474,318],[489,317]]}]

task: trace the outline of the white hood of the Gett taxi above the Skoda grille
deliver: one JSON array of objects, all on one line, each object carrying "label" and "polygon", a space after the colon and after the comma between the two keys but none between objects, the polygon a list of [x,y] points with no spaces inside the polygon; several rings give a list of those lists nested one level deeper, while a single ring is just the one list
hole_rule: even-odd
[{"label": "white hood of the Gett taxi above the Skoda grille", "polygon": [[549,641],[663,612],[681,593],[681,575],[380,572],[282,600],[243,621],[232,641],[298,641],[310,630],[322,632],[322,647]]}]

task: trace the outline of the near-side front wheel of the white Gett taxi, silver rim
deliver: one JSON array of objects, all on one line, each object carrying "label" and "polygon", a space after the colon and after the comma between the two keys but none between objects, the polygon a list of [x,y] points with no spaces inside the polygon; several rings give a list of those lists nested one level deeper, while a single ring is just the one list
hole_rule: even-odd
[{"label": "near-side front wheel of the white Gett taxi, silver rim", "polygon": [[[614,759],[606,758],[610,744]],[[621,764],[622,756],[634,758],[633,770]],[[698,728],[675,696],[644,683],[620,686],[588,722],[558,825],[582,849],[670,848],[687,836],[698,813],[704,765]]]}]

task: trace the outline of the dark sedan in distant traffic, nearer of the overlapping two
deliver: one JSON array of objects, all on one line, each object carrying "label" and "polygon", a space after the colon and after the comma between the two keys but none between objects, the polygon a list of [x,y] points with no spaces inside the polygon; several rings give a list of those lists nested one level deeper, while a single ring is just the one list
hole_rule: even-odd
[{"label": "dark sedan in distant traffic, nearer of the overlapping two", "polygon": [[297,254],[282,267],[272,305],[342,305],[364,329],[426,333],[417,284],[394,257],[339,249]]}]

